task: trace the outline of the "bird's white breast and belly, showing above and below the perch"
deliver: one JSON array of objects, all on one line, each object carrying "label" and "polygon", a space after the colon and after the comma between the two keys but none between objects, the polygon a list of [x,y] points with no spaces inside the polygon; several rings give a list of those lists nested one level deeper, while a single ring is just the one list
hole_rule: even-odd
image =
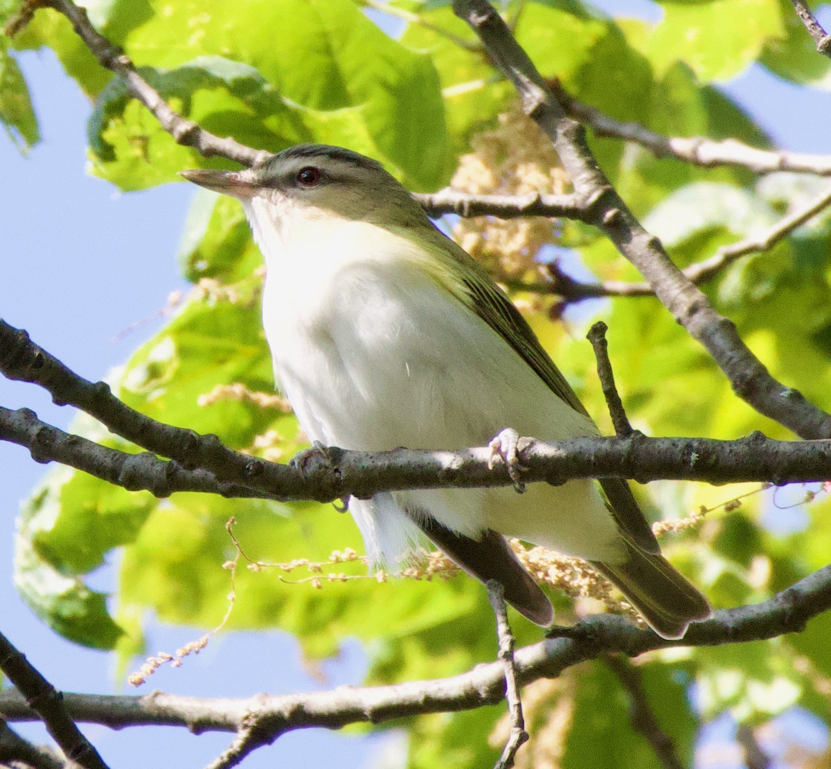
[{"label": "bird's white breast and belly, showing above and below the perch", "polygon": [[[549,439],[596,433],[419,266],[411,242],[361,222],[302,224],[255,234],[268,267],[263,322],[275,375],[309,438],[359,450],[453,449],[484,445],[505,427]],[[392,499],[468,536],[489,527],[607,561],[621,547],[591,482]],[[360,507],[370,550],[402,540],[384,531],[405,525],[390,507],[389,495]]]}]

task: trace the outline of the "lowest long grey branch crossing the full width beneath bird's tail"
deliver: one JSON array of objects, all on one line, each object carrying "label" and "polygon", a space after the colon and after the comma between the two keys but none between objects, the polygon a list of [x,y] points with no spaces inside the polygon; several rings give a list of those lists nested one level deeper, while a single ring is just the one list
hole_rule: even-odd
[{"label": "lowest long grey branch crossing the full width beneath bird's tail", "polygon": [[[681,640],[661,639],[617,615],[593,615],[568,628],[568,635],[545,639],[515,654],[519,682],[556,678],[563,670],[604,654],[636,657],[672,646],[714,646],[770,639],[797,633],[814,616],[831,608],[831,566],[804,577],[760,604],[715,611],[690,625]],[[76,721],[120,728],[142,725],[240,732],[254,724],[273,737],[298,728],[337,729],[350,723],[381,723],[424,713],[455,713],[498,703],[504,698],[504,669],[499,662],[480,664],[451,678],[391,686],[340,687],[328,692],[246,699],[207,700],[154,692],[144,697],[66,694],[64,703]],[[0,692],[0,715],[9,721],[37,720],[16,691]]]}]

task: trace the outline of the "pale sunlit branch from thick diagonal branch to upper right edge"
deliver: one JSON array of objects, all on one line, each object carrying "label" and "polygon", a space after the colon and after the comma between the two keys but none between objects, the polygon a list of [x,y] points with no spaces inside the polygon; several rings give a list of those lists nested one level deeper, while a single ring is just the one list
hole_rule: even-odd
[{"label": "pale sunlit branch from thick diagonal branch to upper right edge", "polygon": [[563,105],[566,114],[590,125],[597,136],[640,144],[659,158],[675,158],[706,168],[733,165],[749,169],[755,174],[793,171],[819,176],[831,175],[831,155],[760,149],[735,139],[715,141],[704,136],[666,136],[649,130],[640,123],[615,120],[597,107],[583,104],[570,96],[556,80],[548,81],[548,86]]}]

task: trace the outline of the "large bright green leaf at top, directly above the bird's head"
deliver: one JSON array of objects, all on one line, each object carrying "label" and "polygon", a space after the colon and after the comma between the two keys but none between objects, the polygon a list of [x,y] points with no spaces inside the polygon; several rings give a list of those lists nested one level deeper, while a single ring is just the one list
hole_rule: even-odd
[{"label": "large bright green leaf at top, directly above the bird's head", "polygon": [[123,44],[140,66],[170,70],[194,56],[223,56],[252,66],[293,104],[360,108],[381,159],[412,188],[435,189],[450,173],[430,57],[387,37],[352,0],[182,0],[130,30]]}]

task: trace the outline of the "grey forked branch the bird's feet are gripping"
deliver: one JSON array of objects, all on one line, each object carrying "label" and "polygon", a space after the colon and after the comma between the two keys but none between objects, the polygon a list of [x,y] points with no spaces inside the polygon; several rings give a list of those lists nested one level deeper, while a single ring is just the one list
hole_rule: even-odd
[{"label": "grey forked branch the bird's feet are gripping", "polygon": [[[130,490],[157,497],[199,491],[224,497],[262,497],[331,502],[371,497],[384,490],[489,487],[510,482],[502,468],[488,467],[487,448],[463,451],[348,452],[332,448],[271,463],[227,448],[215,435],[175,428],[130,409],[110,388],[76,375],[34,344],[25,331],[0,321],[0,372],[38,384],[57,404],[71,404],[101,420],[112,432],[145,448],[129,454],[43,423],[29,409],[0,407],[0,440],[29,449],[37,462],[60,462]],[[573,438],[520,441],[524,480],[634,478],[706,482],[825,480],[831,476],[831,441],[775,441],[754,433],[736,441],[706,438]],[[155,455],[170,457],[165,462]]]}]

